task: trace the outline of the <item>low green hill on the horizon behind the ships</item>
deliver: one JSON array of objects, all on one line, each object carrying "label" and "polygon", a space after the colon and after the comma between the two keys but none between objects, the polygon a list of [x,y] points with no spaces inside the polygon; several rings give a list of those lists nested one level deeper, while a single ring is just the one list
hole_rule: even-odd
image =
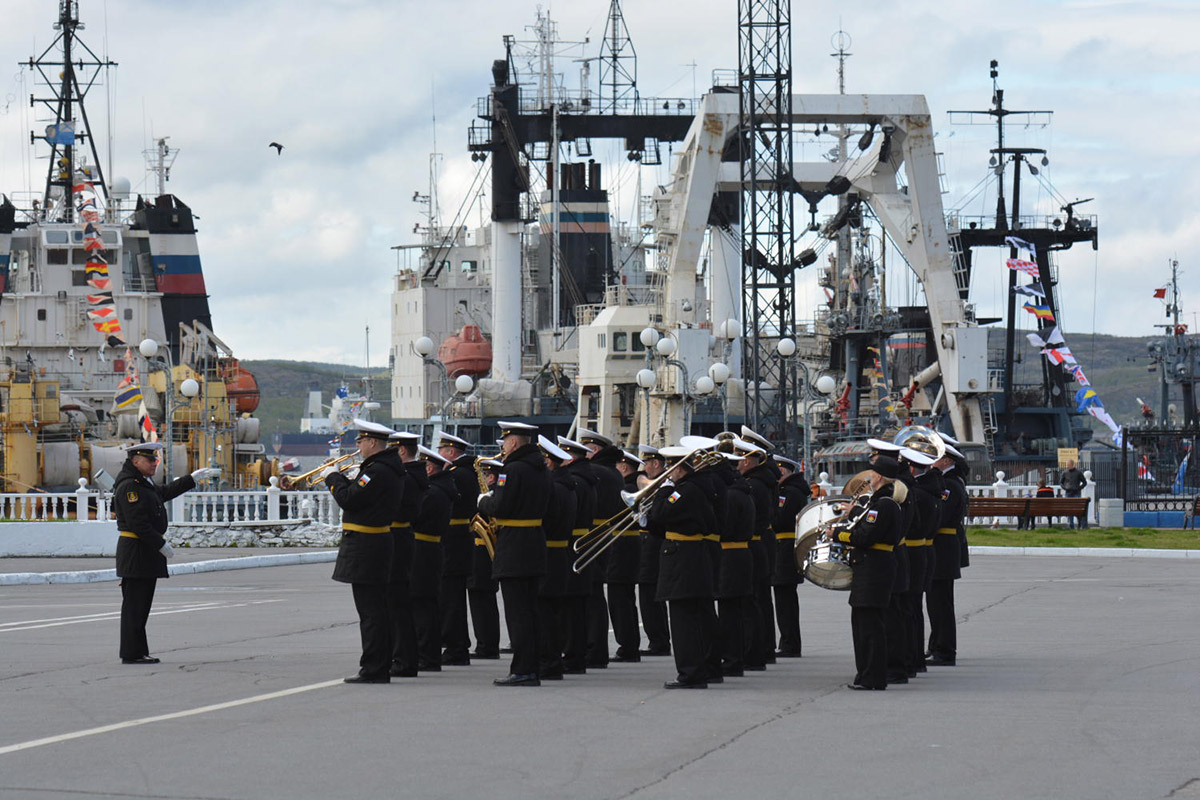
[{"label": "low green hill on the horizon behind the ships", "polygon": [[[989,338],[994,349],[1003,348],[1002,329],[992,329]],[[1146,344],[1154,338],[1067,335],[1067,344],[1104,407],[1122,425],[1141,419],[1138,397],[1158,413],[1159,377],[1157,372],[1147,371],[1150,359],[1146,355]],[[1043,356],[1022,333],[1016,337],[1016,381],[1039,381]],[[262,441],[269,443],[275,433],[300,431],[300,415],[313,387],[320,390],[322,399],[328,405],[334,392],[344,383],[352,393],[367,395],[380,404],[376,420],[388,422],[391,419],[391,375],[386,368],[368,372],[362,367],[313,361],[242,361],[242,365],[254,373],[262,391],[256,413],[262,420]],[[1171,402],[1177,403],[1177,398],[1178,390],[1172,392]],[[1106,431],[1094,420],[1093,428]]]}]

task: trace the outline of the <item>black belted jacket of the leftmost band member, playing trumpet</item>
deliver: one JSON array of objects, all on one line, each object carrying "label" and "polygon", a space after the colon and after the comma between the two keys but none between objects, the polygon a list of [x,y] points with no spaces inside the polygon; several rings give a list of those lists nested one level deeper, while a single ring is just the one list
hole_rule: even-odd
[{"label": "black belted jacket of the leftmost band member, playing trumpet", "polygon": [[391,577],[391,523],[404,492],[404,467],[395,450],[364,459],[352,481],[341,473],[325,479],[342,509],[342,541],[334,581],[384,584]]}]

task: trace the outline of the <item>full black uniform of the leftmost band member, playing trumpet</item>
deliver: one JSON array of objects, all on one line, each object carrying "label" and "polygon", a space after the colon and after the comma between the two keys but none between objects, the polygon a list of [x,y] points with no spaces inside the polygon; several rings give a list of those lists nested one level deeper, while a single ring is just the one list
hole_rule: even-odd
[{"label": "full black uniform of the leftmost band member, playing trumpet", "polygon": [[342,509],[342,541],[337,546],[334,581],[350,584],[359,613],[362,657],[359,676],[386,682],[391,666],[392,632],[388,609],[395,540],[391,523],[404,492],[404,470],[394,450],[364,459],[358,477],[341,473],[325,479]]}]

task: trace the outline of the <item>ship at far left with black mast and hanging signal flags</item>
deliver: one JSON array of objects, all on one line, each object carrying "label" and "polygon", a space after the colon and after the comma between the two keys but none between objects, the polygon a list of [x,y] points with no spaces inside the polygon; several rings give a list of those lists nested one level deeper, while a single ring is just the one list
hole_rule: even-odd
[{"label": "ship at far left with black mast and hanging signal flags", "polygon": [[274,469],[258,385],[212,330],[196,215],[166,191],[175,150],[160,138],[148,154],[155,196],[106,175],[84,101],[115,64],[80,38],[77,0],[54,28],[23,65],[43,90],[46,182],[0,196],[0,491],[74,489],[158,438],[160,480],[220,467],[222,483],[258,486]]}]

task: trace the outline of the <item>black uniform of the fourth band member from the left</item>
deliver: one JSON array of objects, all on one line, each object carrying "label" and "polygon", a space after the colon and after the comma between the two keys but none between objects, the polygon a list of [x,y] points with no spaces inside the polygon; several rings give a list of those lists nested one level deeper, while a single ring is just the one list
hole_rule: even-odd
[{"label": "black uniform of the fourth band member from the left", "polygon": [[[470,519],[475,516],[479,480],[474,459],[460,456],[444,471],[450,474],[457,492],[450,511],[450,524],[442,537],[442,663],[470,663],[470,636],[467,633],[467,578],[475,552]],[[487,558],[487,554],[484,554]]]}]

